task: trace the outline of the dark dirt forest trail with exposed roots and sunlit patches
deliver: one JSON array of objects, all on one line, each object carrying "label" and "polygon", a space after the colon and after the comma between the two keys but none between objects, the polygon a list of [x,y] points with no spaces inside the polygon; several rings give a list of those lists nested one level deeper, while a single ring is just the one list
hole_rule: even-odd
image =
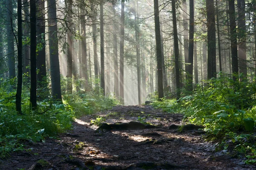
[{"label": "dark dirt forest trail with exposed roots and sunlit patches", "polygon": [[[0,170],[256,170],[242,160],[215,152],[214,144],[202,140],[202,130],[178,132],[175,125],[181,124],[182,117],[151,106],[116,106],[85,115],[76,119],[73,130],[62,133],[60,140],[25,142],[26,151],[0,160]],[[158,127],[98,129],[91,123],[96,118],[116,124],[117,129],[131,121]]]}]

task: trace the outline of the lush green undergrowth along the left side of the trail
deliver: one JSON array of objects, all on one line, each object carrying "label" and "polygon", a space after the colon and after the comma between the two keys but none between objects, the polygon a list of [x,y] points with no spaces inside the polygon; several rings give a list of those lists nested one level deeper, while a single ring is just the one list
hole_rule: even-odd
[{"label": "lush green undergrowth along the left side of the trail", "polygon": [[[24,142],[44,142],[46,137],[56,138],[72,128],[75,117],[110,109],[115,104],[96,92],[63,93],[63,104],[53,102],[49,96],[40,98],[38,108],[30,109],[29,84],[22,89],[22,113],[15,110],[15,80],[0,79],[0,158],[13,151],[24,150]],[[47,88],[41,89],[43,92]],[[38,90],[39,91],[39,90]],[[45,94],[49,94],[46,91]]]}]

